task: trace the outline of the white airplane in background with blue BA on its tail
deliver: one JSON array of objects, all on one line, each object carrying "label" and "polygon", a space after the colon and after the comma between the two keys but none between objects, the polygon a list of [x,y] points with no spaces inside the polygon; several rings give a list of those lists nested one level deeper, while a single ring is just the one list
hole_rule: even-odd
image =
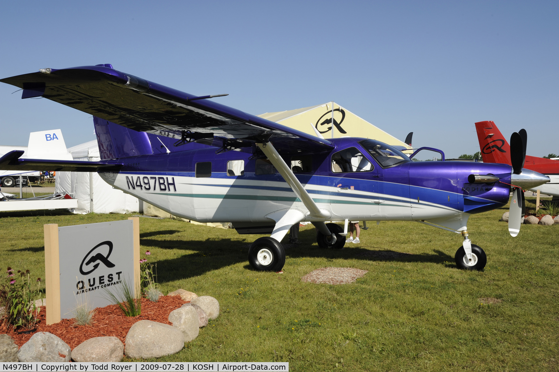
[{"label": "white airplane in background with blue BA on its tail", "polygon": [[[60,129],[42,130],[31,132],[29,142],[25,146],[3,146],[0,145],[0,157],[13,150],[23,150],[22,158],[28,159],[57,159],[73,160],[72,154],[68,152],[62,131]],[[1,186],[15,187],[19,176],[24,176],[30,181],[41,177],[40,171],[3,171],[0,170]]]}]

